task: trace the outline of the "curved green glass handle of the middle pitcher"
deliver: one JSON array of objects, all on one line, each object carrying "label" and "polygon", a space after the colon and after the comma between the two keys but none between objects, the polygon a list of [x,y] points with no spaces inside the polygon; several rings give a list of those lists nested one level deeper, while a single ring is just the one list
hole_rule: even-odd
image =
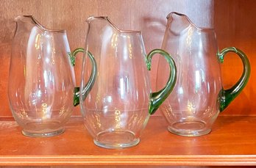
[{"label": "curved green glass handle of the middle pitcher", "polygon": [[150,94],[150,103],[149,103],[149,114],[154,114],[154,112],[157,111],[159,106],[163,103],[163,101],[166,100],[168,95],[170,95],[171,91],[174,89],[174,86],[176,84],[177,80],[177,68],[174,62],[174,59],[168,54],[166,51],[163,51],[161,49],[154,49],[152,50],[146,59],[146,64],[148,70],[151,69],[151,64],[152,64],[152,56],[154,54],[161,54],[162,56],[165,57],[166,61],[168,62],[168,65],[170,67],[170,74],[168,81],[166,83],[166,86],[163,87],[162,90],[158,92],[152,92]]}]

